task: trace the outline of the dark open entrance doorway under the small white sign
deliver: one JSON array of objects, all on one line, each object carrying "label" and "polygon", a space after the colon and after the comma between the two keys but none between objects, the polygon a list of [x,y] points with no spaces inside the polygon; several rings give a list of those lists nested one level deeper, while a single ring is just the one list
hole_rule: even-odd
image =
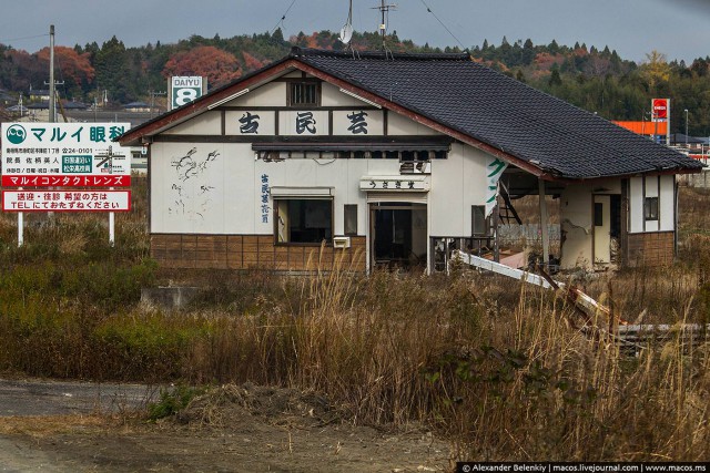
[{"label": "dark open entrance doorway under the small white sign", "polygon": [[426,205],[371,204],[373,267],[426,267]]}]

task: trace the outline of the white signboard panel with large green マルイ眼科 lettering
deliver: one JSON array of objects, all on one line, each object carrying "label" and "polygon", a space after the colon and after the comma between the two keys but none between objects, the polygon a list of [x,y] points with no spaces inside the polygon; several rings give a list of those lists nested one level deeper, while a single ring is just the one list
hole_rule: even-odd
[{"label": "white signboard panel with large green \u30de\u30eb\u30a4\u773c\u79d1 lettering", "polygon": [[3,123],[2,175],[131,175],[130,123]]}]

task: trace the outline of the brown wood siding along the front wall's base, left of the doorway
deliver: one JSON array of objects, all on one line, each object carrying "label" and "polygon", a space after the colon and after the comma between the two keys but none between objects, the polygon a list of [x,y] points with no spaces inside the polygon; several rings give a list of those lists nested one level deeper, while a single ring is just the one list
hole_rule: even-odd
[{"label": "brown wood siding along the front wall's base, left of the doorway", "polygon": [[272,235],[151,235],[151,257],[164,268],[268,269],[277,271],[365,271],[365,237],[351,237],[351,248],[274,245]]}]

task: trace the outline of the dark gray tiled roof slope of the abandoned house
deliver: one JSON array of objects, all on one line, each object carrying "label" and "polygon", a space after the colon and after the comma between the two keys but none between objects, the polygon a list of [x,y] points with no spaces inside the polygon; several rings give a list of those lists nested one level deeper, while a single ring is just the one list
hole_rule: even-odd
[{"label": "dark gray tiled roof slope of the abandoned house", "polygon": [[291,56],[556,177],[693,171],[697,161],[466,54],[296,49]]}]

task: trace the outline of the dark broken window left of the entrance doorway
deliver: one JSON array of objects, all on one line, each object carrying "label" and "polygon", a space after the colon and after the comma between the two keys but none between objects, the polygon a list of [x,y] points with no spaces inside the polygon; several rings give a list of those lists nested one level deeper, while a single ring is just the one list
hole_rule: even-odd
[{"label": "dark broken window left of the entrance doorway", "polygon": [[333,239],[333,200],[274,199],[276,243],[321,244]]}]

